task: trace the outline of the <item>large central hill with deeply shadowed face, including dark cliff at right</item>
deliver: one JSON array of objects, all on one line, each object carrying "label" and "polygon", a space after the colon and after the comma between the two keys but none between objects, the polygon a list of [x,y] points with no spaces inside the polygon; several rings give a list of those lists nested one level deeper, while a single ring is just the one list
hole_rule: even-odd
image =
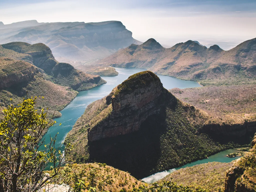
[{"label": "large central hill with deeply shadowed face, including dark cliff at right", "polygon": [[88,105],[66,142],[68,138],[75,146],[71,156],[77,163],[95,159],[142,178],[248,144],[255,131],[254,122],[211,121],[205,111],[178,100],[154,73],[144,71]]}]

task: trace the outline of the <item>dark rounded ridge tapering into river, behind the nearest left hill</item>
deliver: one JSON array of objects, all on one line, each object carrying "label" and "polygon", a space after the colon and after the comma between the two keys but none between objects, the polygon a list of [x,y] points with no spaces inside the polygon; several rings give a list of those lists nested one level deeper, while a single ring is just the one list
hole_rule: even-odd
[{"label": "dark rounded ridge tapering into river, behind the nearest left hill", "polygon": [[44,70],[44,72],[52,77],[55,83],[62,86],[68,86],[74,90],[82,91],[106,83],[99,76],[92,76],[74,69],[68,63],[59,63],[52,55],[51,49],[45,44],[37,43],[30,45],[26,42],[11,42],[3,44],[2,47],[6,52],[13,50],[24,55],[30,55],[32,57],[30,61],[35,66]]}]

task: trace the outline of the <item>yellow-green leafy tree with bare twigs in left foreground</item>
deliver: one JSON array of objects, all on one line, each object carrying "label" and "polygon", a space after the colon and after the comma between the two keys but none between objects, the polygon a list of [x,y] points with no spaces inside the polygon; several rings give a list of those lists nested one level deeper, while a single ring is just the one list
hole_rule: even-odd
[{"label": "yellow-green leafy tree with bare twigs in left foreground", "polygon": [[[42,97],[43,98],[43,97]],[[39,142],[43,134],[56,122],[44,109],[35,109],[35,98],[24,99],[18,106],[6,105],[0,120],[0,192],[36,192],[58,179],[65,164],[65,152],[55,148],[56,137],[49,144]],[[39,150],[44,146],[44,150]],[[67,159],[66,159],[67,160]],[[51,176],[44,169],[52,164]]]}]

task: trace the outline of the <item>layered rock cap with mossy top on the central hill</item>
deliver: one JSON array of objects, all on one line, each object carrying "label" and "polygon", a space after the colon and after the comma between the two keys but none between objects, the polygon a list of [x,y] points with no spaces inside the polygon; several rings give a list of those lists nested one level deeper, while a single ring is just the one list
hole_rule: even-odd
[{"label": "layered rock cap with mossy top on the central hill", "polygon": [[151,71],[129,77],[106,97],[106,103],[111,103],[109,111],[100,122],[97,120],[91,124],[88,140],[138,131],[149,116],[159,114],[167,97],[168,91]]}]

